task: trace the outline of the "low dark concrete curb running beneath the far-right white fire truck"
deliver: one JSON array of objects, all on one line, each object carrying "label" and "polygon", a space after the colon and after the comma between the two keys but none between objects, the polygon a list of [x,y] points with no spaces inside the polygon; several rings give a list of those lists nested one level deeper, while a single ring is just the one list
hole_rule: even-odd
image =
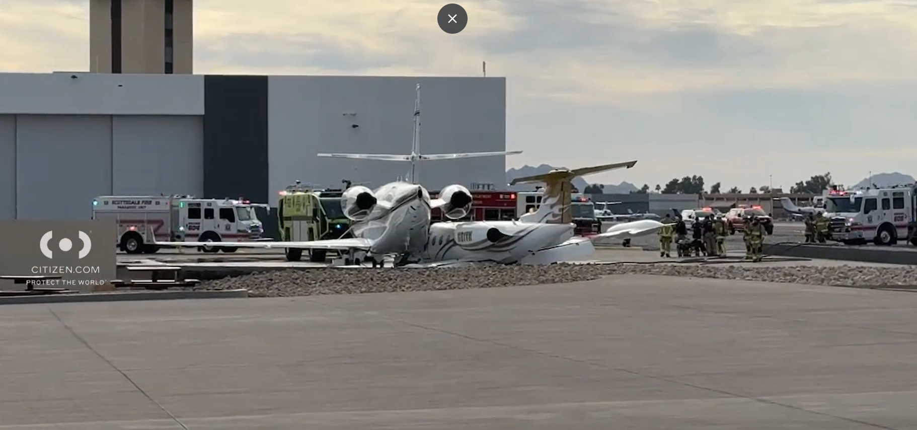
[{"label": "low dark concrete curb running beneath the far-right white fire truck", "polygon": [[798,257],[801,259],[835,259],[863,263],[917,265],[917,252],[900,248],[778,243],[774,245],[765,244],[764,253],[772,256]]}]

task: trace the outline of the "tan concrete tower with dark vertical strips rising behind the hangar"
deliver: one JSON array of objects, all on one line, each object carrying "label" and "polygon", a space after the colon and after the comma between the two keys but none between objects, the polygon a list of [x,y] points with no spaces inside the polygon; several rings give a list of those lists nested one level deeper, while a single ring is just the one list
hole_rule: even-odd
[{"label": "tan concrete tower with dark vertical strips rising behind the hangar", "polygon": [[89,70],[193,73],[193,0],[89,0]]}]

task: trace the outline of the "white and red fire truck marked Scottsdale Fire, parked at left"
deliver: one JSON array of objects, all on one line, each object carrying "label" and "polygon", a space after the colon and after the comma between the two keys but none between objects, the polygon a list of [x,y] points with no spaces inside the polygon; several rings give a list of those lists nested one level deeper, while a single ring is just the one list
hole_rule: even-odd
[{"label": "white and red fire truck marked Scottsdale Fire, parked at left", "polygon": [[[117,226],[116,247],[128,254],[153,253],[156,242],[240,242],[260,239],[263,228],[247,200],[198,199],[189,195],[104,195],[93,200],[93,219]],[[235,252],[238,247],[205,247]]]}]

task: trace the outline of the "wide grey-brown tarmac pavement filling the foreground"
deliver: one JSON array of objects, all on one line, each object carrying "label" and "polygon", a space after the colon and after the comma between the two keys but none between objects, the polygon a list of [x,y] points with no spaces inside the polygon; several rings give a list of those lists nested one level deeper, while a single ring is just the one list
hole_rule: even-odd
[{"label": "wide grey-brown tarmac pavement filling the foreground", "polygon": [[914,307],[653,276],[9,306],[0,430],[915,428]]}]

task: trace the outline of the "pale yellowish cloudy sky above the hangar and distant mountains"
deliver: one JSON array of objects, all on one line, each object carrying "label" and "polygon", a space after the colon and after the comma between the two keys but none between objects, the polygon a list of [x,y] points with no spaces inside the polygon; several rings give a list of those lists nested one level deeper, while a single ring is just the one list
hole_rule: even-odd
[{"label": "pale yellowish cloudy sky above the hangar and distant mountains", "polygon": [[[0,71],[88,69],[88,0],[2,0]],[[917,0],[194,0],[195,72],[507,78],[507,167],[724,189],[917,174]],[[558,146],[563,151],[558,151]],[[569,151],[573,146],[577,151]]]}]

